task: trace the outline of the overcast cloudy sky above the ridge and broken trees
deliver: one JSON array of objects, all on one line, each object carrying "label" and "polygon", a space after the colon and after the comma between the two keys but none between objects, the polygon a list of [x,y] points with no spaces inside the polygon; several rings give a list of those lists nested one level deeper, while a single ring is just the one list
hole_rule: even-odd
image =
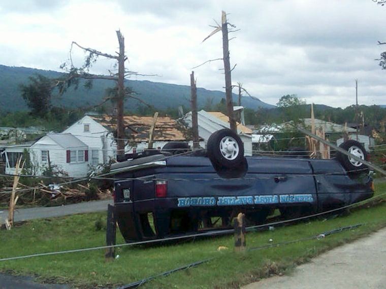
[{"label": "overcast cloudy sky above the ridge and broken trees", "polygon": [[[221,21],[230,33],[232,82],[276,104],[286,94],[307,103],[346,107],[386,104],[386,7],[372,0],[2,0],[0,64],[61,71],[73,41],[108,54],[125,38],[126,68],[156,77],[137,80],[222,90],[222,35],[203,42]],[[84,54],[73,49],[75,65]],[[91,70],[108,74],[100,58]],[[236,91],[235,91],[236,92]]]}]

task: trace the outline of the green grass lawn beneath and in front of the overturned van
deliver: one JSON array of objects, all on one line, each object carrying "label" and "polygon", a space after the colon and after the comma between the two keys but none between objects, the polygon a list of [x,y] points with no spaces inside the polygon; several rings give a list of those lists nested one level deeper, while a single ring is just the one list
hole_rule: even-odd
[{"label": "green grass lawn beneath and in front of the overturned van", "polygon": [[[376,194],[384,192],[386,183],[377,184]],[[119,258],[112,262],[105,261],[105,249],[0,261],[0,271],[38,275],[42,281],[68,282],[80,288],[116,287],[211,259],[200,266],[155,278],[141,288],[239,288],[271,274],[291,271],[321,252],[386,226],[385,212],[386,202],[377,202],[372,207],[352,209],[344,217],[318,218],[274,231],[250,232],[246,235],[248,250],[243,253],[234,252],[233,236],[223,236],[169,246],[121,245],[116,249]],[[11,231],[0,231],[0,258],[103,246],[106,236],[101,224],[105,223],[105,213],[29,221]],[[323,239],[307,239],[356,224],[363,225]],[[278,245],[288,241],[295,242]],[[117,244],[123,243],[117,232]],[[267,245],[264,249],[253,249]],[[219,246],[228,249],[217,250]]]}]

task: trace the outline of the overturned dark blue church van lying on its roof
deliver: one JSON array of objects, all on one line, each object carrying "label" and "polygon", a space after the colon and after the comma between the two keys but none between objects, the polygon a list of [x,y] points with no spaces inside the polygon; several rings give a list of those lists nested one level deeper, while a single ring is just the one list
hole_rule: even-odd
[{"label": "overturned dark blue church van lying on its roof", "polygon": [[[359,142],[342,147],[367,157]],[[111,166],[114,213],[126,242],[229,228],[240,212],[249,225],[262,224],[276,209],[294,218],[374,193],[369,169],[347,156],[244,157],[242,141],[229,129],[213,133],[206,150],[181,143],[167,148],[127,154]]]}]

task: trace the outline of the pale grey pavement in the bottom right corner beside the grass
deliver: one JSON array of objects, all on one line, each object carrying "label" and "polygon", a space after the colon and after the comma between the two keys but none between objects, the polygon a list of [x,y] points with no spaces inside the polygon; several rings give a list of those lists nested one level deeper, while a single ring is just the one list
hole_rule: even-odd
[{"label": "pale grey pavement in the bottom right corner beside the grass", "polygon": [[275,276],[242,289],[385,289],[386,228],[340,246],[297,267],[291,275]]}]

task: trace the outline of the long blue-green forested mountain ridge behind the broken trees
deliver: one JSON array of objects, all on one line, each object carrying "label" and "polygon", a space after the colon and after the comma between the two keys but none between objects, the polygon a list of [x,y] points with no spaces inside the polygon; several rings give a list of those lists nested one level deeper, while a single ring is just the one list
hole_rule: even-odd
[{"label": "long blue-green forested mountain ridge behind the broken trees", "polygon": [[[57,78],[62,73],[53,70],[43,70],[29,67],[6,66],[0,64],[0,106],[3,112],[15,112],[28,110],[28,107],[21,97],[19,90],[20,84],[27,85],[29,77],[41,74],[48,78]],[[82,83],[83,81],[81,81]],[[162,82],[152,82],[149,80],[125,80],[125,85],[132,88],[136,97],[143,102],[149,103],[156,109],[177,108],[179,105],[190,107],[190,86],[167,84]],[[77,90],[70,88],[60,98],[52,100],[55,106],[79,107],[97,105],[103,101],[105,90],[113,87],[114,83],[109,80],[94,80],[90,90],[85,89],[82,85]],[[233,94],[236,101],[237,95]],[[218,90],[207,90],[197,88],[198,107],[204,107],[207,102],[213,105],[226,98],[225,92]],[[242,96],[241,103],[243,106],[258,110],[263,108],[274,108],[275,105],[265,103],[257,97]],[[125,110],[133,110],[141,105],[141,102],[135,99],[125,101]],[[134,107],[133,107],[134,106]]]}]

